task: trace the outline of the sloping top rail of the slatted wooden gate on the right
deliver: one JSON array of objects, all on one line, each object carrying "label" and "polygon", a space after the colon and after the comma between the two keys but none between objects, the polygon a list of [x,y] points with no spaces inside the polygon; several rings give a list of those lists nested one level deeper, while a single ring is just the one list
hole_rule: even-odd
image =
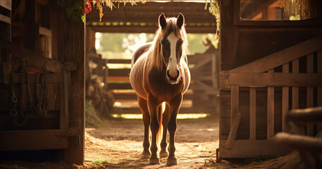
[{"label": "sloping top rail of the slatted wooden gate on the right", "polygon": [[309,39],[246,65],[241,65],[238,68],[230,70],[230,72],[265,72],[320,49],[322,49],[322,36]]}]

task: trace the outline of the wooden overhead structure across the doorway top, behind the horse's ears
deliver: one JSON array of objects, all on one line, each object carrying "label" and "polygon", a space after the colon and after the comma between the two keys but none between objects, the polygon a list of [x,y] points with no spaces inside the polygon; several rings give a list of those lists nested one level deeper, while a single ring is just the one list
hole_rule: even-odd
[{"label": "wooden overhead structure across the doorway top, behind the horse's ears", "polygon": [[113,8],[112,11],[104,6],[103,13],[101,22],[97,9],[86,15],[86,24],[95,32],[154,33],[157,29],[157,18],[161,13],[165,13],[167,17],[177,17],[179,13],[183,13],[188,33],[216,32],[216,18],[205,10],[205,3],[181,1],[148,2],[136,6],[119,4],[119,8]]}]

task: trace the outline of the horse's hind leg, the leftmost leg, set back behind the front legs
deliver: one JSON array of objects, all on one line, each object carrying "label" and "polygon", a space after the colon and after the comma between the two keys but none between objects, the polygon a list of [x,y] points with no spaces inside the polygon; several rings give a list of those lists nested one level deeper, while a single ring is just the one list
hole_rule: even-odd
[{"label": "horse's hind leg, the leftmost leg, set back behind the front legs", "polygon": [[148,110],[147,101],[140,96],[138,96],[138,106],[140,107],[143,114],[143,123],[144,123],[144,140],[143,140],[143,152],[141,158],[150,157],[150,141],[149,141],[149,128],[150,128],[150,113]]}]

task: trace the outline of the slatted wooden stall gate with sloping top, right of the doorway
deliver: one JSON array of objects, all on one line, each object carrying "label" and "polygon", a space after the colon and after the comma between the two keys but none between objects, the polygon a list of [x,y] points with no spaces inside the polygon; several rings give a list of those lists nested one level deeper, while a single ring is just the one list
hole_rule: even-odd
[{"label": "slatted wooden stall gate with sloping top, right of the doorway", "polygon": [[[322,106],[321,49],[320,36],[220,73],[220,126],[225,127],[217,158],[288,153],[271,139],[285,131],[290,109]],[[321,127],[307,125],[303,134],[313,136]]]}]

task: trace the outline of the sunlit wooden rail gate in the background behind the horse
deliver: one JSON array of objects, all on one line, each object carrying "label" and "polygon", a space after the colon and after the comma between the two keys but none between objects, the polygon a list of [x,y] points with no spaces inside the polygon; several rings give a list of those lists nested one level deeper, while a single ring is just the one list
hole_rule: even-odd
[{"label": "sunlit wooden rail gate in the background behind the horse", "polygon": [[[206,96],[209,98],[218,93],[218,68],[215,66],[217,65],[217,59],[217,54],[195,54],[188,56],[191,84],[189,90],[184,94],[184,101],[180,113],[206,113],[205,105],[210,103],[211,100],[207,100],[208,102],[201,101],[201,97]],[[136,103],[137,96],[129,82],[131,60],[107,59],[107,64],[126,65],[126,68],[108,68],[107,70],[107,89],[113,93],[114,102]],[[129,106],[117,106],[117,104],[114,104],[114,112],[141,113],[137,104],[129,104]]]}]

